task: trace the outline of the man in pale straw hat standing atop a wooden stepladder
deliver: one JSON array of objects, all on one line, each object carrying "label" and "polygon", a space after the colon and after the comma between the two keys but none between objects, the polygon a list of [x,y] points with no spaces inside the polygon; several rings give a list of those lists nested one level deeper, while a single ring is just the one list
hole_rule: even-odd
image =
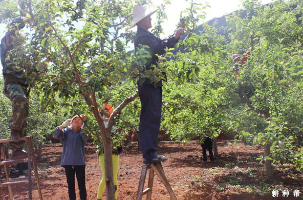
[{"label": "man in pale straw hat standing atop a wooden stepladder", "polygon": [[[156,38],[148,31],[151,28],[151,15],[156,11],[157,10],[148,11],[141,5],[136,5],[133,8],[133,20],[130,28],[135,25],[138,27],[134,40],[135,52],[140,48],[145,48],[151,53],[151,58],[144,63],[145,69],[140,73],[144,73],[144,71],[156,67],[158,62],[157,55],[163,55],[166,47],[172,48],[184,33],[184,28],[180,27],[177,28],[173,36],[167,40]],[[148,48],[142,47],[142,45],[148,46]],[[143,163],[149,164],[165,161],[167,158],[159,156],[156,153],[158,150],[157,138],[161,122],[162,81],[159,80],[155,82],[149,78],[139,78],[137,85],[142,106],[139,125],[139,141],[140,149],[143,154]]]}]

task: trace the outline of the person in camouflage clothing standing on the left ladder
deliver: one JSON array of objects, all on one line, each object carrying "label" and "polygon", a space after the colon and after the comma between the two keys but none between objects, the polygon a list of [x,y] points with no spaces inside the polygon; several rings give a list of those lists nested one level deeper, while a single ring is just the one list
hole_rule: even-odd
[{"label": "person in camouflage clothing standing on the left ladder", "polygon": [[[12,116],[9,126],[10,137],[16,141],[26,136],[29,92],[25,79],[22,53],[23,40],[19,30],[25,26],[22,19],[14,20],[1,40],[1,64],[3,66],[4,94],[12,102]],[[26,156],[23,142],[10,142],[12,157]]]}]

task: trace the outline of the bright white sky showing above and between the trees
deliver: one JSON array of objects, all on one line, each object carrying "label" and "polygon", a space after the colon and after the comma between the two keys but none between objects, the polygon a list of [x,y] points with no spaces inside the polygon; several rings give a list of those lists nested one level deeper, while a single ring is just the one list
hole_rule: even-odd
[{"label": "bright white sky showing above and between the trees", "polygon": [[[221,17],[242,8],[242,0],[198,0],[197,2],[206,4],[209,3],[210,7],[206,8],[206,19],[204,21],[211,20],[213,18]],[[152,0],[154,6],[163,3],[163,0]],[[260,0],[262,4],[273,2],[273,0]],[[189,7],[190,0],[171,0],[170,5],[166,5],[167,20],[164,21],[164,37],[168,37],[173,34],[176,24],[179,21],[180,12]],[[156,15],[152,16],[152,21],[155,22]],[[202,23],[203,21],[201,21]],[[134,29],[135,30],[135,29]],[[6,25],[0,24],[0,39],[3,38],[6,32]],[[0,65],[0,71],[2,66]]]}]

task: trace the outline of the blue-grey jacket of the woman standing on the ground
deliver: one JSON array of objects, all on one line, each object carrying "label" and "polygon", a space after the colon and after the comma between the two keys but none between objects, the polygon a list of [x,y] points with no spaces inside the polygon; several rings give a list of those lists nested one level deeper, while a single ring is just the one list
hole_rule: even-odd
[{"label": "blue-grey jacket of the woman standing on the ground", "polygon": [[54,131],[54,137],[63,143],[61,166],[86,165],[84,144],[89,139],[80,129],[74,133],[71,128],[60,131],[59,126]]}]

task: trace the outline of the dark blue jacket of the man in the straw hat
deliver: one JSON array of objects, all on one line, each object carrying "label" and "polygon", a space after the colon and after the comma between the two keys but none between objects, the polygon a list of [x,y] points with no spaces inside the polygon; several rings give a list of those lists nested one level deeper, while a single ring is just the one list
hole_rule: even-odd
[{"label": "dark blue jacket of the man in the straw hat", "polygon": [[[177,43],[178,40],[176,40],[174,37],[170,37],[167,40],[160,40],[158,38],[156,38],[151,32],[138,27],[136,36],[135,36],[135,40],[134,40],[134,45],[135,45],[135,51],[138,50],[138,48],[142,48],[141,45],[147,45],[149,46],[149,49],[147,49],[150,54],[151,54],[151,60],[149,60],[146,64],[145,64],[145,70],[149,70],[151,69],[150,66],[151,64],[154,64],[155,66],[158,66],[157,62],[158,62],[158,57],[156,56],[159,55],[163,55],[165,53],[165,48],[173,48],[173,46]],[[141,45],[140,45],[141,44]],[[141,72],[142,73],[142,72]],[[166,76],[165,76],[166,77]],[[145,81],[143,82],[143,84],[152,84],[151,81],[146,78]],[[162,85],[162,81],[159,81],[157,83],[158,86]]]}]

